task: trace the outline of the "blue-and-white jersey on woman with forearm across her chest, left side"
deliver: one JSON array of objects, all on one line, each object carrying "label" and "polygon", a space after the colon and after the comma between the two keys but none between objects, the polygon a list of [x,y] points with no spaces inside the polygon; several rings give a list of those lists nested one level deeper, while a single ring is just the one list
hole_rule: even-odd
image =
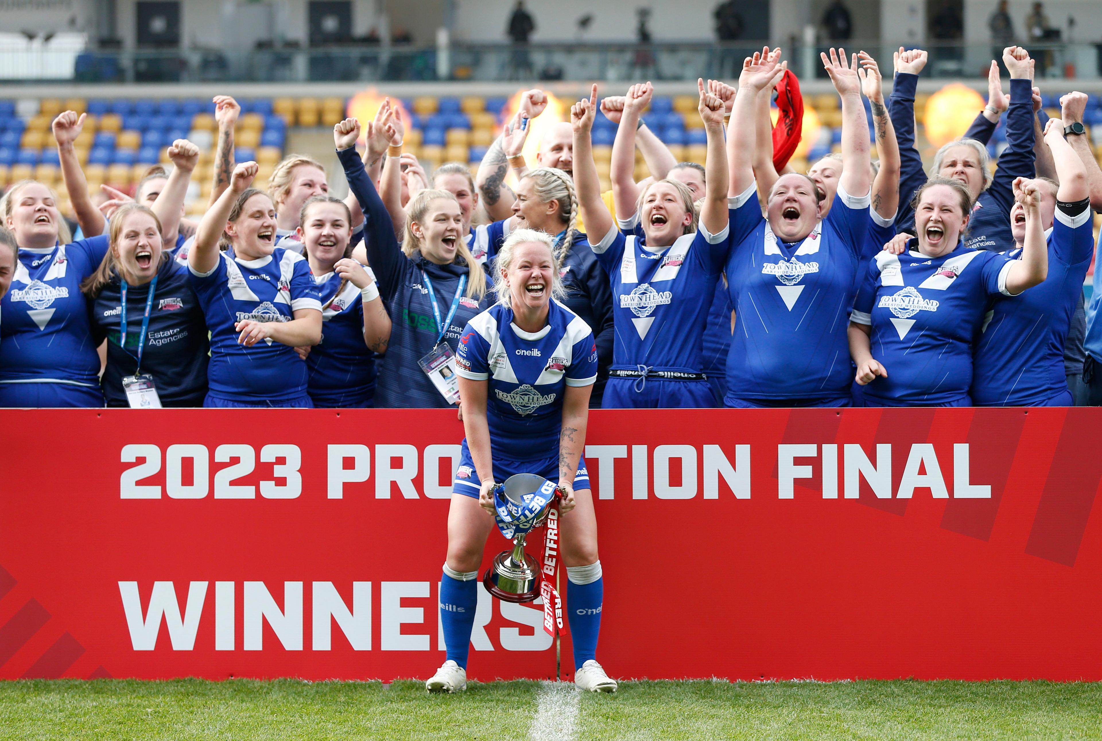
[{"label": "blue-and-white jersey on woman with forearm across her chest, left side", "polygon": [[274,247],[257,260],[218,255],[209,272],[191,270],[192,286],[210,330],[210,395],[278,404],[306,394],[306,364],[282,343],[238,344],[237,322],[290,322],[299,309],[321,311],[310,266],[296,253]]}]

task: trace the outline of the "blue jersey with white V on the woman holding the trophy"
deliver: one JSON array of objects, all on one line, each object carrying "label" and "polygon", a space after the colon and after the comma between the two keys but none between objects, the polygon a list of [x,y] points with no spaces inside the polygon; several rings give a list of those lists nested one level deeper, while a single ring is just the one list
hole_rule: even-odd
[{"label": "blue jersey with white V on the woman holding the trophy", "polygon": [[489,380],[494,458],[545,460],[559,452],[566,386],[597,378],[597,345],[588,325],[554,300],[539,332],[525,332],[512,309],[495,304],[464,327],[455,365],[464,378]]}]

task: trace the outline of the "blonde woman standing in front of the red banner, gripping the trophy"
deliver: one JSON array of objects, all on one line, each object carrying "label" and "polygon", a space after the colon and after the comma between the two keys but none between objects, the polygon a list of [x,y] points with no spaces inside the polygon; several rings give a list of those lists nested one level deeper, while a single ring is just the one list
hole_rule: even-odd
[{"label": "blonde woman standing in front of the red banner, gripping the trophy", "polygon": [[597,522],[582,451],[597,348],[590,326],[560,303],[552,238],[518,229],[494,262],[498,302],[467,323],[460,340],[463,440],[447,516],[440,620],[447,661],[430,692],[466,688],[467,651],[478,602],[478,567],[495,524],[495,488],[518,473],[558,481],[560,550],[580,689],[616,691],[595,661],[604,582]]}]

